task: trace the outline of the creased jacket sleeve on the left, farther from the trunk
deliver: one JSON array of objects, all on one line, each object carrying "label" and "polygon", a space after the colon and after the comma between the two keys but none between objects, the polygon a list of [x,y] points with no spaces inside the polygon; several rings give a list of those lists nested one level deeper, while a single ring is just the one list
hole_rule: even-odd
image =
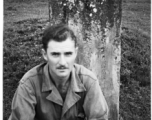
[{"label": "creased jacket sleeve on the left, farther from the trunk", "polygon": [[36,98],[32,89],[21,83],[12,101],[12,113],[9,120],[34,120]]}]

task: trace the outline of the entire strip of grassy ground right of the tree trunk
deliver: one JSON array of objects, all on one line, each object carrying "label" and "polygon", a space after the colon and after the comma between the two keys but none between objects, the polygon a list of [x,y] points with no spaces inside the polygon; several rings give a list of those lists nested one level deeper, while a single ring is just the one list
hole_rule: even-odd
[{"label": "entire strip of grassy ground right of the tree trunk", "polygon": [[122,8],[120,116],[150,120],[150,0],[125,0]]}]

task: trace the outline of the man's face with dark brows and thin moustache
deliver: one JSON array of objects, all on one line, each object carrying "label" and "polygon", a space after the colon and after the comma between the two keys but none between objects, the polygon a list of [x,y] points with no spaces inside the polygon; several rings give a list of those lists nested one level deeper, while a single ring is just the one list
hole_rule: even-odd
[{"label": "man's face with dark brows and thin moustache", "polygon": [[43,57],[49,64],[49,71],[57,78],[67,78],[73,68],[78,48],[71,38],[63,42],[51,40],[47,50],[43,50]]}]

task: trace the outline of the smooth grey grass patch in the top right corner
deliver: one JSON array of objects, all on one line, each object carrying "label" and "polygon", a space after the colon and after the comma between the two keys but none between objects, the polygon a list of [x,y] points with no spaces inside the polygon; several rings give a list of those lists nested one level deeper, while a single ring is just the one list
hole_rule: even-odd
[{"label": "smooth grey grass patch in the top right corner", "polygon": [[122,27],[150,36],[150,0],[124,0]]}]

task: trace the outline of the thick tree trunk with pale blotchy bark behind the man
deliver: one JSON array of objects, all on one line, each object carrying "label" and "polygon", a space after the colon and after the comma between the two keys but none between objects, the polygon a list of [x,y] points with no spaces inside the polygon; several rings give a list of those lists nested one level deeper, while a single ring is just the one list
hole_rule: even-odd
[{"label": "thick tree trunk with pale blotchy bark behind the man", "polygon": [[78,37],[76,61],[97,75],[109,106],[109,120],[119,119],[121,2],[62,1],[68,16],[65,21]]}]

